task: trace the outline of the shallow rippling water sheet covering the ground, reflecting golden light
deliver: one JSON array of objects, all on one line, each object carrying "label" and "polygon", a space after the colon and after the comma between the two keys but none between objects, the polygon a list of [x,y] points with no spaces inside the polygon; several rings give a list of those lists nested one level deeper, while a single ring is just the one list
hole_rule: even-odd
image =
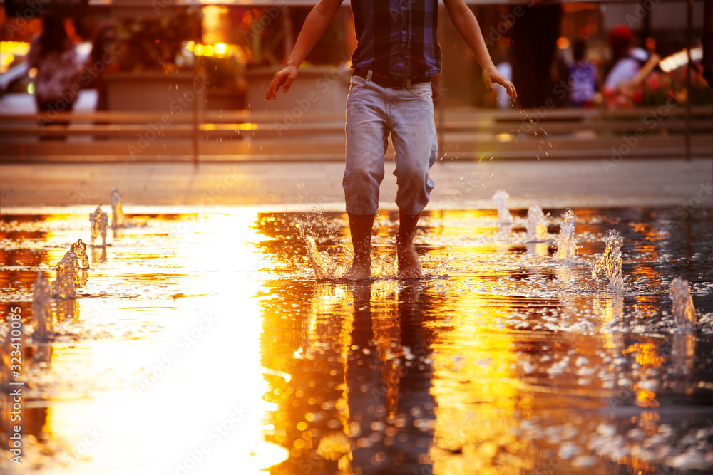
[{"label": "shallow rippling water sheet covering the ground, reflecting golden light", "polygon": [[[24,332],[19,377],[3,349],[4,449],[6,382],[24,382],[22,464],[3,457],[3,472],[713,471],[710,209],[575,209],[573,263],[553,259],[563,209],[545,210],[538,243],[526,210],[508,226],[493,210],[428,212],[418,281],[394,274],[384,212],[381,275],[366,282],[317,280],[310,265],[307,237],[349,263],[341,213],[131,211],[89,249],[78,298],[53,299],[47,343],[32,335],[32,282],[89,241],[88,212],[1,216],[0,338],[17,307]],[[610,229],[623,292],[591,275]],[[675,277],[692,290],[693,333],[674,324]]]}]

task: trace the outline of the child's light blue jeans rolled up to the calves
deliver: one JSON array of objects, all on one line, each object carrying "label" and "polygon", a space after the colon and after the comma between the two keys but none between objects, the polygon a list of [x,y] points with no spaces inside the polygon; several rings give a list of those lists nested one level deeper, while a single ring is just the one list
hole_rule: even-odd
[{"label": "child's light blue jeans rolled up to the calves", "polygon": [[347,213],[375,214],[378,210],[389,134],[396,151],[396,206],[415,216],[429,202],[434,188],[429,169],[438,157],[431,83],[392,89],[352,76],[342,181]]}]

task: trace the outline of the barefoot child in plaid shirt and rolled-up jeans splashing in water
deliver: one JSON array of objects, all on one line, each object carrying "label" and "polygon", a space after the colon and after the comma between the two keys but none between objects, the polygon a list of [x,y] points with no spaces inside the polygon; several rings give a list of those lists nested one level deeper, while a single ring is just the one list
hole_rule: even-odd
[{"label": "barefoot child in plaid shirt and rolled-up jeans splashing in water", "polygon": [[[491,60],[473,12],[463,0],[444,0],[448,14],[483,68],[488,92],[503,85],[511,98],[515,86]],[[265,94],[274,99],[297,77],[297,68],[334,19],[342,0],[320,0],[304,21],[287,64],[275,73]],[[414,247],[414,231],[429,202],[434,182],[429,169],[436,162],[436,125],[431,77],[441,71],[438,46],[438,0],[352,0],[356,50],[347,97],[347,166],[344,198],[354,246],[348,278],[371,273],[371,229],[384,178],[384,154],[391,134],[396,155],[396,236],[399,276],[423,275]]]}]

